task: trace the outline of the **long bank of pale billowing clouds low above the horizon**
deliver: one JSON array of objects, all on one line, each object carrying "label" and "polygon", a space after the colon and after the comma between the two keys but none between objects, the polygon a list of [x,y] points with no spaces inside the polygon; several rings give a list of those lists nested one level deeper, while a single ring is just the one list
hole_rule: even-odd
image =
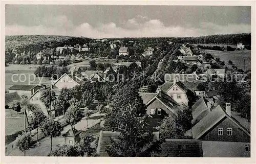
[{"label": "long bank of pale billowing clouds low above the horizon", "polygon": [[165,26],[159,19],[150,19],[142,15],[128,19],[122,27],[115,22],[100,24],[96,27],[84,22],[75,26],[66,16],[44,18],[39,26],[6,26],[6,35],[69,35],[91,38],[111,37],[189,37],[214,34],[250,33],[248,24],[216,25],[202,22],[199,28]]}]

